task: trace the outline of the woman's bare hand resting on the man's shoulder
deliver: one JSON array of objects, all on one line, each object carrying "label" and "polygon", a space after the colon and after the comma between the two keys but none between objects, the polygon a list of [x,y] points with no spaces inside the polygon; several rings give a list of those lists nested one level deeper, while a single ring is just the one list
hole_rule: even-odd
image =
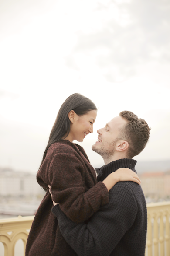
[{"label": "woman's bare hand resting on the man's shoulder", "polygon": [[119,181],[133,181],[140,185],[141,181],[136,174],[129,168],[119,168],[116,172],[112,172],[103,180],[108,191]]}]

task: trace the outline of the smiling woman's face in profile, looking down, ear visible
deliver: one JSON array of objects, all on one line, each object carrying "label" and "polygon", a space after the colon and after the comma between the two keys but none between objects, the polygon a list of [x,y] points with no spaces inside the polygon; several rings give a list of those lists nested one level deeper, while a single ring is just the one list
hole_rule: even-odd
[{"label": "smiling woman's face in profile, looking down, ear visible", "polygon": [[73,140],[82,142],[85,137],[88,136],[88,133],[93,132],[93,124],[95,123],[96,116],[96,110],[91,110],[83,116],[78,116],[75,112],[73,112],[73,115],[70,116],[71,126],[67,139],[71,142]]}]

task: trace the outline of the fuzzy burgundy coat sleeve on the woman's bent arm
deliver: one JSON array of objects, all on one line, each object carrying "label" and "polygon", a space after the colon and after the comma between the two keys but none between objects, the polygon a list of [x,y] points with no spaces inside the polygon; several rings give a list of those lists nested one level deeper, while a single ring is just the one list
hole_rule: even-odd
[{"label": "fuzzy burgundy coat sleeve on the woman's bent arm", "polygon": [[52,200],[76,223],[88,220],[100,206],[109,203],[109,193],[103,182],[85,191],[83,165],[73,154],[56,154],[48,175]]}]

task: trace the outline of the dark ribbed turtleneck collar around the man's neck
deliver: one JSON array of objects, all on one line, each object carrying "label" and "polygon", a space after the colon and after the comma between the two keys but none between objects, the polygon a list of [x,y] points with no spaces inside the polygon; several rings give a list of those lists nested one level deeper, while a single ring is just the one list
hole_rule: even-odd
[{"label": "dark ribbed turtleneck collar around the man's neck", "polygon": [[103,181],[110,173],[116,172],[119,168],[129,168],[132,171],[136,172],[135,165],[137,161],[129,158],[119,159],[109,163],[108,165],[104,165],[99,168],[97,180]]}]

